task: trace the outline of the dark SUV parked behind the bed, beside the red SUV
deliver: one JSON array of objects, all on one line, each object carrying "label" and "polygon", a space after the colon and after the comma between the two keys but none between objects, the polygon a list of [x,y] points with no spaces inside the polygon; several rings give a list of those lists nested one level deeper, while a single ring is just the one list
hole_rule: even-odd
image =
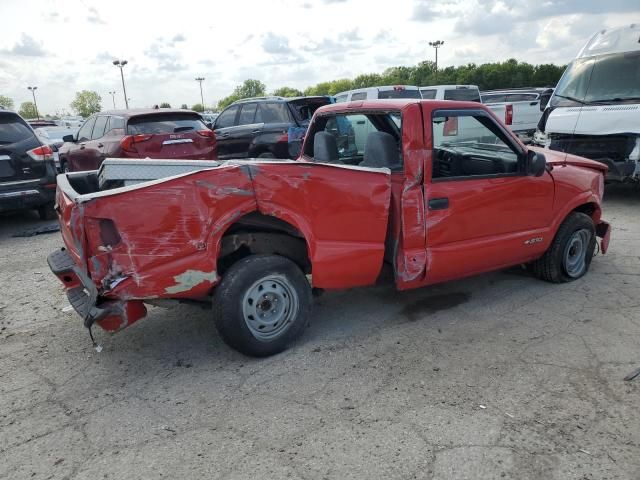
[{"label": "dark SUV parked behind the bed, beside the red SUV", "polygon": [[213,124],[218,158],[294,158],[313,113],[329,103],[326,96],[238,100]]}]

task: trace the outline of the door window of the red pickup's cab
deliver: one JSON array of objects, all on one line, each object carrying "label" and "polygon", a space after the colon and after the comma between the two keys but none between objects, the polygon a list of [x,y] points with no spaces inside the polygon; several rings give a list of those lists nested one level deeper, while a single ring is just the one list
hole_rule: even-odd
[{"label": "door window of the red pickup's cab", "polygon": [[520,172],[518,152],[490,117],[434,112],[432,128],[434,181]]}]

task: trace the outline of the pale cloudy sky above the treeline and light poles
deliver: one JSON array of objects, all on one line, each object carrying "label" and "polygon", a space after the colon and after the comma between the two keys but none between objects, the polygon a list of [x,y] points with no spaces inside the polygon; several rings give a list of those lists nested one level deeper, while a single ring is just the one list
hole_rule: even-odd
[{"label": "pale cloudy sky above the treeline and light poles", "polygon": [[103,109],[200,102],[247,78],[268,91],[433,60],[566,64],[602,28],[640,22],[639,0],[0,0],[0,95],[16,109],[70,112],[80,90]]}]

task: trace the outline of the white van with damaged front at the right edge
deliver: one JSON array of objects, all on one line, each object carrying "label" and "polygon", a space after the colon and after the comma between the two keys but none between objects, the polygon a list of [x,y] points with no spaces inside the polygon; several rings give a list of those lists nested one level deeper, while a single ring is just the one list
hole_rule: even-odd
[{"label": "white van with damaged front at the right edge", "polygon": [[607,180],[640,180],[640,23],[601,30],[569,64],[534,137],[609,166]]}]

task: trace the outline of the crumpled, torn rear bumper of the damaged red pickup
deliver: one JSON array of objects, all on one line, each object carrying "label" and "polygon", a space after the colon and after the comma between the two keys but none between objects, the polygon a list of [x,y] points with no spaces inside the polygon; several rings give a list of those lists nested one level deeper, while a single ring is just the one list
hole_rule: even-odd
[{"label": "crumpled, torn rear bumper of the damaged red pickup", "polygon": [[64,248],[52,252],[47,263],[64,285],[69,303],[89,328],[94,323],[108,332],[117,332],[147,314],[141,300],[102,298],[95,284],[74,262]]}]

